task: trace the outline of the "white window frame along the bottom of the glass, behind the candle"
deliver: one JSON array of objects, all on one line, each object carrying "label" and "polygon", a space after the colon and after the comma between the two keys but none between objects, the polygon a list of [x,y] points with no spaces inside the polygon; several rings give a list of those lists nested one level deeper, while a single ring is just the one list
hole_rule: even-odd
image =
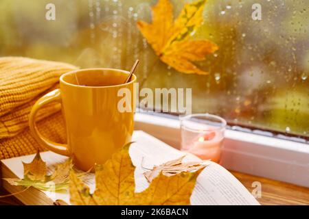
[{"label": "white window frame along the bottom of the glass, behind the candle", "polygon": [[[179,149],[179,120],[137,112],[135,129]],[[227,129],[222,166],[309,188],[309,144]]]}]

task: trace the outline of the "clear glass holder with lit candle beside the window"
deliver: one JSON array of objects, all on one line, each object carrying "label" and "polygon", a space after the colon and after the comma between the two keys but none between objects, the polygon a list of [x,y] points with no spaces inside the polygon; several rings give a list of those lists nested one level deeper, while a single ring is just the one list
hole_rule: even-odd
[{"label": "clear glass holder with lit candle beside the window", "polygon": [[220,116],[192,114],[181,120],[181,151],[220,162],[227,122]]}]

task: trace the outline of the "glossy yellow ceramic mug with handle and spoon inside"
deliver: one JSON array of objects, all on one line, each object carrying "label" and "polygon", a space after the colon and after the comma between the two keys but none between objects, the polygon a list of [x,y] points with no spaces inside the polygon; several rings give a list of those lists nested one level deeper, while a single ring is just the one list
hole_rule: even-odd
[{"label": "glossy yellow ceramic mug with handle and spoon inside", "polygon": [[[34,138],[50,151],[73,157],[81,170],[104,164],[119,147],[130,142],[134,128],[134,110],[119,112],[120,88],[128,88],[133,96],[135,75],[128,83],[128,72],[110,68],[75,70],[60,77],[60,89],[42,96],[30,113],[30,129]],[[36,112],[48,103],[62,103],[67,126],[67,144],[44,138],[36,129]],[[131,101],[131,109],[135,103]]]}]

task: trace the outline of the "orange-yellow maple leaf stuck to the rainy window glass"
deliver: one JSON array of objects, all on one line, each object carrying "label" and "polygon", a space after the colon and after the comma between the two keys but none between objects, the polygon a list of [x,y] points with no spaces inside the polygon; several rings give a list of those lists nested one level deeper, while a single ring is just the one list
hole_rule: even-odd
[{"label": "orange-yellow maple leaf stuck to the rainy window glass", "polygon": [[206,0],[185,4],[174,21],[173,5],[169,0],[159,0],[152,7],[152,23],[138,21],[137,27],[152,46],[160,60],[181,73],[207,73],[192,62],[205,60],[218,46],[210,40],[190,40],[203,23]]}]

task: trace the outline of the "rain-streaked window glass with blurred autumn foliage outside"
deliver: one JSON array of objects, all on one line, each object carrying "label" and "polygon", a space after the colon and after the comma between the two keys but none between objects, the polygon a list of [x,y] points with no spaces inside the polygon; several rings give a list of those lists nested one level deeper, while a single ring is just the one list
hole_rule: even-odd
[{"label": "rain-streaked window glass with blurred autumn foliage outside", "polygon": [[[174,16],[192,2],[170,1]],[[56,6],[55,20],[45,18],[47,3]],[[194,113],[309,137],[309,1],[208,0],[204,23],[192,38],[218,44],[218,51],[196,62],[209,75],[179,73],[156,61],[136,25],[151,21],[155,3],[1,0],[0,55],[124,69],[139,58],[144,87],[192,88]],[[262,20],[252,18],[255,3]]]}]

